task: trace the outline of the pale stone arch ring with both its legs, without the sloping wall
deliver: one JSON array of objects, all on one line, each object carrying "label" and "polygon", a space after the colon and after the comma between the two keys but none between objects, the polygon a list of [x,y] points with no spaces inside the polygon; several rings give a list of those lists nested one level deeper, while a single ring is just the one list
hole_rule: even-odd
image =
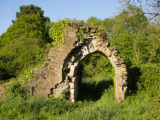
[{"label": "pale stone arch ring with both its legs, without the sloping wall", "polygon": [[127,70],[122,58],[118,55],[115,47],[109,42],[100,38],[93,39],[88,44],[77,47],[71,51],[65,60],[67,72],[63,73],[65,81],[69,81],[70,100],[75,102],[78,95],[78,76],[77,70],[79,63],[89,54],[94,52],[103,53],[111,62],[115,69],[115,97],[118,101],[124,100],[127,90]]}]

